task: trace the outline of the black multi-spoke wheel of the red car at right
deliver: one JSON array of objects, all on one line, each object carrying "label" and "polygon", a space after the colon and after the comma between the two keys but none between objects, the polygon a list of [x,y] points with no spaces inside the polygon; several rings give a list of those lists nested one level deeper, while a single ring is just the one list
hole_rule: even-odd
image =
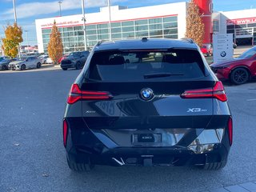
[{"label": "black multi-spoke wheel of the red car at right", "polygon": [[245,68],[237,68],[233,70],[230,74],[230,81],[236,85],[241,85],[243,83],[248,82],[249,80],[249,72]]}]

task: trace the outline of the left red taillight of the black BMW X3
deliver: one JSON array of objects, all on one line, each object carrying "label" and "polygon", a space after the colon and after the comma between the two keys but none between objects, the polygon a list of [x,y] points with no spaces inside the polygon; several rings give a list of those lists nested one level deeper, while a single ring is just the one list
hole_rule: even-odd
[{"label": "left red taillight of the black BMW X3", "polygon": [[112,95],[109,92],[105,91],[84,91],[80,90],[78,84],[73,84],[71,86],[69,97],[67,98],[68,104],[73,104],[78,100],[102,100],[102,99],[110,99]]}]

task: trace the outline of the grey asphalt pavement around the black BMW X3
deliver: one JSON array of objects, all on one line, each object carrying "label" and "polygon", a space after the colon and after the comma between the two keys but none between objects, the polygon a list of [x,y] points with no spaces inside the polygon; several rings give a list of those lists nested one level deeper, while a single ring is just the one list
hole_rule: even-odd
[{"label": "grey asphalt pavement around the black BMW X3", "polygon": [[256,181],[256,82],[226,85],[234,117],[227,166],[96,166],[72,172],[62,146],[66,96],[79,70],[0,72],[0,191],[211,191]]}]

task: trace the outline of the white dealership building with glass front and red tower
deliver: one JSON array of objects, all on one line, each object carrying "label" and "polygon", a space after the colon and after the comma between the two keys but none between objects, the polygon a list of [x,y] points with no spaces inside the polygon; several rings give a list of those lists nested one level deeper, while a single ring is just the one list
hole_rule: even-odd
[{"label": "white dealership building with glass front and red tower", "polygon": [[[204,43],[212,42],[213,34],[234,34],[239,44],[256,45],[256,10],[212,13],[212,0],[195,0],[205,24]],[[98,13],[86,14],[86,46],[101,40],[129,38],[184,38],[187,2],[168,3],[129,9],[126,6],[102,7]],[[39,53],[47,52],[54,21],[62,35],[65,53],[84,50],[82,14],[37,19]]]}]

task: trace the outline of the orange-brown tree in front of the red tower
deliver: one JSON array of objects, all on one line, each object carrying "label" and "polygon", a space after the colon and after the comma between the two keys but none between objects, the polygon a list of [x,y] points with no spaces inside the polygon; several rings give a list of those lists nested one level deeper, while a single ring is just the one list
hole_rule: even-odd
[{"label": "orange-brown tree in front of the red tower", "polygon": [[194,0],[189,2],[186,14],[186,38],[192,38],[198,46],[202,46],[205,30],[198,5]]}]

